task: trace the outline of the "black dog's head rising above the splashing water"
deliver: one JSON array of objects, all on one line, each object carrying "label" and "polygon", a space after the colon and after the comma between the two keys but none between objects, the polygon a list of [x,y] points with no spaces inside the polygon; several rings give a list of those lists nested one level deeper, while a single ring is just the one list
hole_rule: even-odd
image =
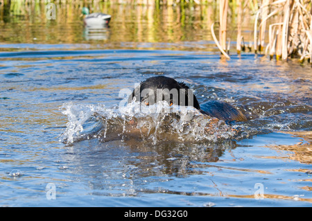
[{"label": "black dog's head rising above the splashing water", "polygon": [[177,82],[173,78],[157,76],[141,82],[139,87],[130,94],[128,103],[139,100],[144,105],[153,105],[161,100],[166,100],[169,105],[193,106],[200,109],[200,105],[193,89],[187,87],[184,82]]}]

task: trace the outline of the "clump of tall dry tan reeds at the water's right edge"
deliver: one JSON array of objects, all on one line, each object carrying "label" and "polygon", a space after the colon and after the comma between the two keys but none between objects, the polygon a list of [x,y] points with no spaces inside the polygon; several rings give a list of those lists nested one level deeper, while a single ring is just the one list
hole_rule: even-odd
[{"label": "clump of tall dry tan reeds at the water's right edge", "polygon": [[[226,0],[219,0],[220,47],[225,49],[226,33]],[[236,1],[237,12],[237,38],[236,51],[241,53],[242,0]],[[305,0],[262,0],[261,2],[249,1],[250,8],[254,8],[254,53],[261,53],[265,46],[266,35],[268,44],[265,53],[276,60],[300,58],[300,61],[309,60],[312,63],[312,6],[311,1]],[[257,6],[260,6],[258,10]],[[308,8],[310,7],[310,10]],[[269,24],[269,20],[275,22]],[[277,21],[277,22],[276,22]],[[268,28],[267,28],[268,24]],[[213,30],[212,30],[213,31]],[[211,31],[211,33],[212,33]],[[268,34],[267,34],[268,33]],[[214,35],[214,34],[213,34]],[[216,39],[215,39],[216,41]],[[251,47],[251,46],[250,46]],[[220,50],[221,51],[221,50]],[[223,51],[221,51],[223,53]],[[223,53],[224,54],[224,53]],[[228,56],[228,55],[227,55]],[[226,56],[226,57],[227,57]],[[228,57],[229,58],[229,57]]]}]

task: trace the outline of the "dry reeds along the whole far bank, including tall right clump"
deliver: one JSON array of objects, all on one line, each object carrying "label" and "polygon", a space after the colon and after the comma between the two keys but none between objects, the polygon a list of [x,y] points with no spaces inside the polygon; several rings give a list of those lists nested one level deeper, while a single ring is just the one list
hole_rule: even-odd
[{"label": "dry reeds along the whole far bank, including tall right clump", "polygon": [[[299,58],[301,62],[308,60],[312,63],[312,6],[311,0],[0,0],[0,7],[10,5],[10,10],[13,15],[24,15],[24,10],[21,10],[21,5],[27,6],[30,4],[37,5],[38,3],[51,1],[62,4],[98,4],[99,2],[110,4],[130,4],[130,5],[145,5],[163,8],[170,8],[172,5],[180,7],[184,10],[187,6],[196,5],[213,5],[218,3],[218,38],[214,35],[214,24],[210,18],[207,22],[207,27],[211,28],[212,37],[220,51],[229,58],[229,47],[226,48],[226,41],[229,33],[228,29],[228,11],[231,6],[231,19],[236,19],[236,52],[245,51],[245,41],[249,41],[250,50],[254,53],[265,53],[270,58],[276,60],[287,60],[288,58]],[[190,8],[192,8],[190,7]],[[211,8],[211,7],[207,7]],[[206,14],[209,14],[208,10]],[[235,15],[234,15],[234,14]],[[244,36],[242,33],[243,23],[245,18],[250,18],[253,15],[253,28],[250,28],[250,35]],[[231,20],[231,21],[232,21]],[[252,21],[250,20],[250,21]],[[248,22],[250,22],[248,21]],[[183,16],[180,22],[183,22]],[[212,23],[212,25],[211,25]],[[235,37],[230,36],[232,39]],[[227,53],[225,52],[227,51]]]}]

